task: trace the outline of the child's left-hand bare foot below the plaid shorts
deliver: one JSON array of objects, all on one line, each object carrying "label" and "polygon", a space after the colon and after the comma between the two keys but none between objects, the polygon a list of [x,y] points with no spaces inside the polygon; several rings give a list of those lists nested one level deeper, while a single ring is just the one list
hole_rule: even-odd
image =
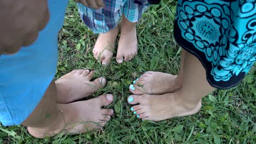
[{"label": "child's left-hand bare foot below the plaid shorts", "polygon": [[102,62],[103,65],[108,65],[113,56],[115,48],[115,40],[117,39],[119,26],[115,27],[107,33],[101,33],[98,35],[96,44],[94,45],[94,57]]}]

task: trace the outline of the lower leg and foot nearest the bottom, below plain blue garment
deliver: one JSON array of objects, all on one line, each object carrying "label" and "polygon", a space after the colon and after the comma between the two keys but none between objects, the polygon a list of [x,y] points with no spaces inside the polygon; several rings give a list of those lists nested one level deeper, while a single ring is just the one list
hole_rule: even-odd
[{"label": "lower leg and foot nearest the bottom, below plain blue garment", "polygon": [[54,136],[61,131],[65,134],[87,133],[103,127],[113,115],[112,109],[101,109],[112,103],[113,95],[70,104],[56,104],[56,95],[52,81],[36,109],[22,123],[34,137]]}]

